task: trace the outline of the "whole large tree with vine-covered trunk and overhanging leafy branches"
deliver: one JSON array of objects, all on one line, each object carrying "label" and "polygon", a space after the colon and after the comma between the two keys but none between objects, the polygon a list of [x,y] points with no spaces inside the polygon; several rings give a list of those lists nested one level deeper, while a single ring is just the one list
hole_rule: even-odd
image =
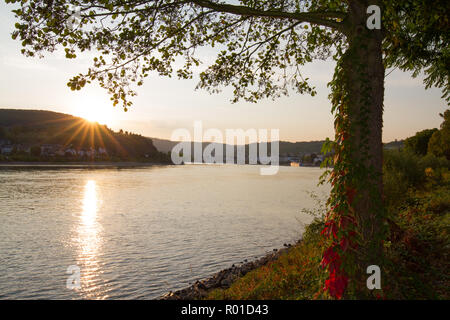
[{"label": "whole large tree with vine-covered trunk and overhanging leafy branches", "polygon": [[[232,86],[233,101],[256,102],[292,90],[314,96],[300,67],[334,59],[329,86],[336,136],[324,149],[334,149],[335,156],[322,266],[333,297],[347,288],[367,292],[366,267],[382,265],[386,231],[385,69],[424,72],[426,86],[442,88],[449,98],[448,1],[6,1],[20,3],[12,37],[22,41],[25,55],[64,47],[73,59],[79,51],[96,49],[93,66],[68,85],[80,90],[96,80],[125,110],[135,95],[133,84],[141,85],[150,72],[192,78],[193,68],[202,65],[203,46],[218,53],[200,73],[198,88],[215,93]],[[69,5],[79,11],[70,12]]]}]

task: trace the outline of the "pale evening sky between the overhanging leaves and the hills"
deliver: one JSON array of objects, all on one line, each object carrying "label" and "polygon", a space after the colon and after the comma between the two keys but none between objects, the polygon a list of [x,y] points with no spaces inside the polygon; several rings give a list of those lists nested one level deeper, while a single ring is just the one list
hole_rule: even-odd
[{"label": "pale evening sky between the overhanging leaves and the hills", "polygon": [[[230,90],[210,95],[194,90],[195,80],[178,80],[150,75],[137,88],[133,106],[124,112],[113,107],[106,91],[97,83],[81,91],[71,91],[68,80],[87,71],[94,53],[75,60],[62,50],[44,59],[27,58],[20,53],[20,41],[11,39],[15,18],[11,6],[0,1],[0,108],[51,110],[81,116],[148,137],[170,139],[179,128],[193,131],[201,120],[204,130],[279,129],[283,141],[313,141],[333,138],[333,116],[327,83],[334,63],[317,61],[303,67],[318,94],[292,94],[276,100],[232,104]],[[212,59],[213,57],[211,57]],[[206,67],[206,66],[205,66]],[[391,70],[388,70],[389,73]],[[439,113],[447,108],[441,91],[425,90],[422,78],[394,70],[385,82],[383,141],[404,139],[416,132],[437,128]]]}]

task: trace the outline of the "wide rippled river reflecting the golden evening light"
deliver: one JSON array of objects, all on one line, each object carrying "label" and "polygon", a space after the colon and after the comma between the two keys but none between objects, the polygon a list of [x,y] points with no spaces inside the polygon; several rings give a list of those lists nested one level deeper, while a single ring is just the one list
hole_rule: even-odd
[{"label": "wide rippled river reflecting the golden evening light", "polygon": [[0,169],[0,299],[154,299],[293,243],[322,170],[259,168]]}]

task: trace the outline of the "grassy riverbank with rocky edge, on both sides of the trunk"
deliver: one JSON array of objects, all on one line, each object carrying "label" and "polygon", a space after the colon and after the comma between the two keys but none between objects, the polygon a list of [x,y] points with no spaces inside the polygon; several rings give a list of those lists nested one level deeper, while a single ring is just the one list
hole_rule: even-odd
[{"label": "grassy riverbank with rocky edge, on both sides of the trunk", "polygon": [[[448,178],[429,180],[420,189],[410,189],[402,201],[389,208],[382,290],[361,293],[363,296],[352,293],[347,299],[449,299]],[[315,219],[294,246],[224,269],[161,299],[330,299],[322,289],[326,274],[319,267],[323,228],[323,220]]]}]

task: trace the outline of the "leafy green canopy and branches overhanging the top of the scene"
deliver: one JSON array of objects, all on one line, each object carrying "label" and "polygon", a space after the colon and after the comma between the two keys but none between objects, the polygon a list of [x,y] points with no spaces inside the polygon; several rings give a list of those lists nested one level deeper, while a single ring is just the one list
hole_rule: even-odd
[{"label": "leafy green canopy and branches overhanging the top of the scene", "polygon": [[[96,50],[89,70],[68,85],[80,90],[96,80],[113,104],[121,102],[126,110],[134,85],[142,85],[150,73],[192,78],[194,68],[202,69],[198,88],[215,93],[232,86],[233,101],[256,102],[287,95],[290,89],[315,95],[299,67],[314,59],[340,58],[351,28],[352,1],[6,2],[16,3],[12,37],[22,41],[23,54],[42,56],[62,47],[74,59],[79,52]],[[414,75],[425,71],[426,85],[441,87],[448,98],[448,1],[378,2],[386,67],[413,70]],[[216,48],[215,61],[202,57],[201,47]]]}]

